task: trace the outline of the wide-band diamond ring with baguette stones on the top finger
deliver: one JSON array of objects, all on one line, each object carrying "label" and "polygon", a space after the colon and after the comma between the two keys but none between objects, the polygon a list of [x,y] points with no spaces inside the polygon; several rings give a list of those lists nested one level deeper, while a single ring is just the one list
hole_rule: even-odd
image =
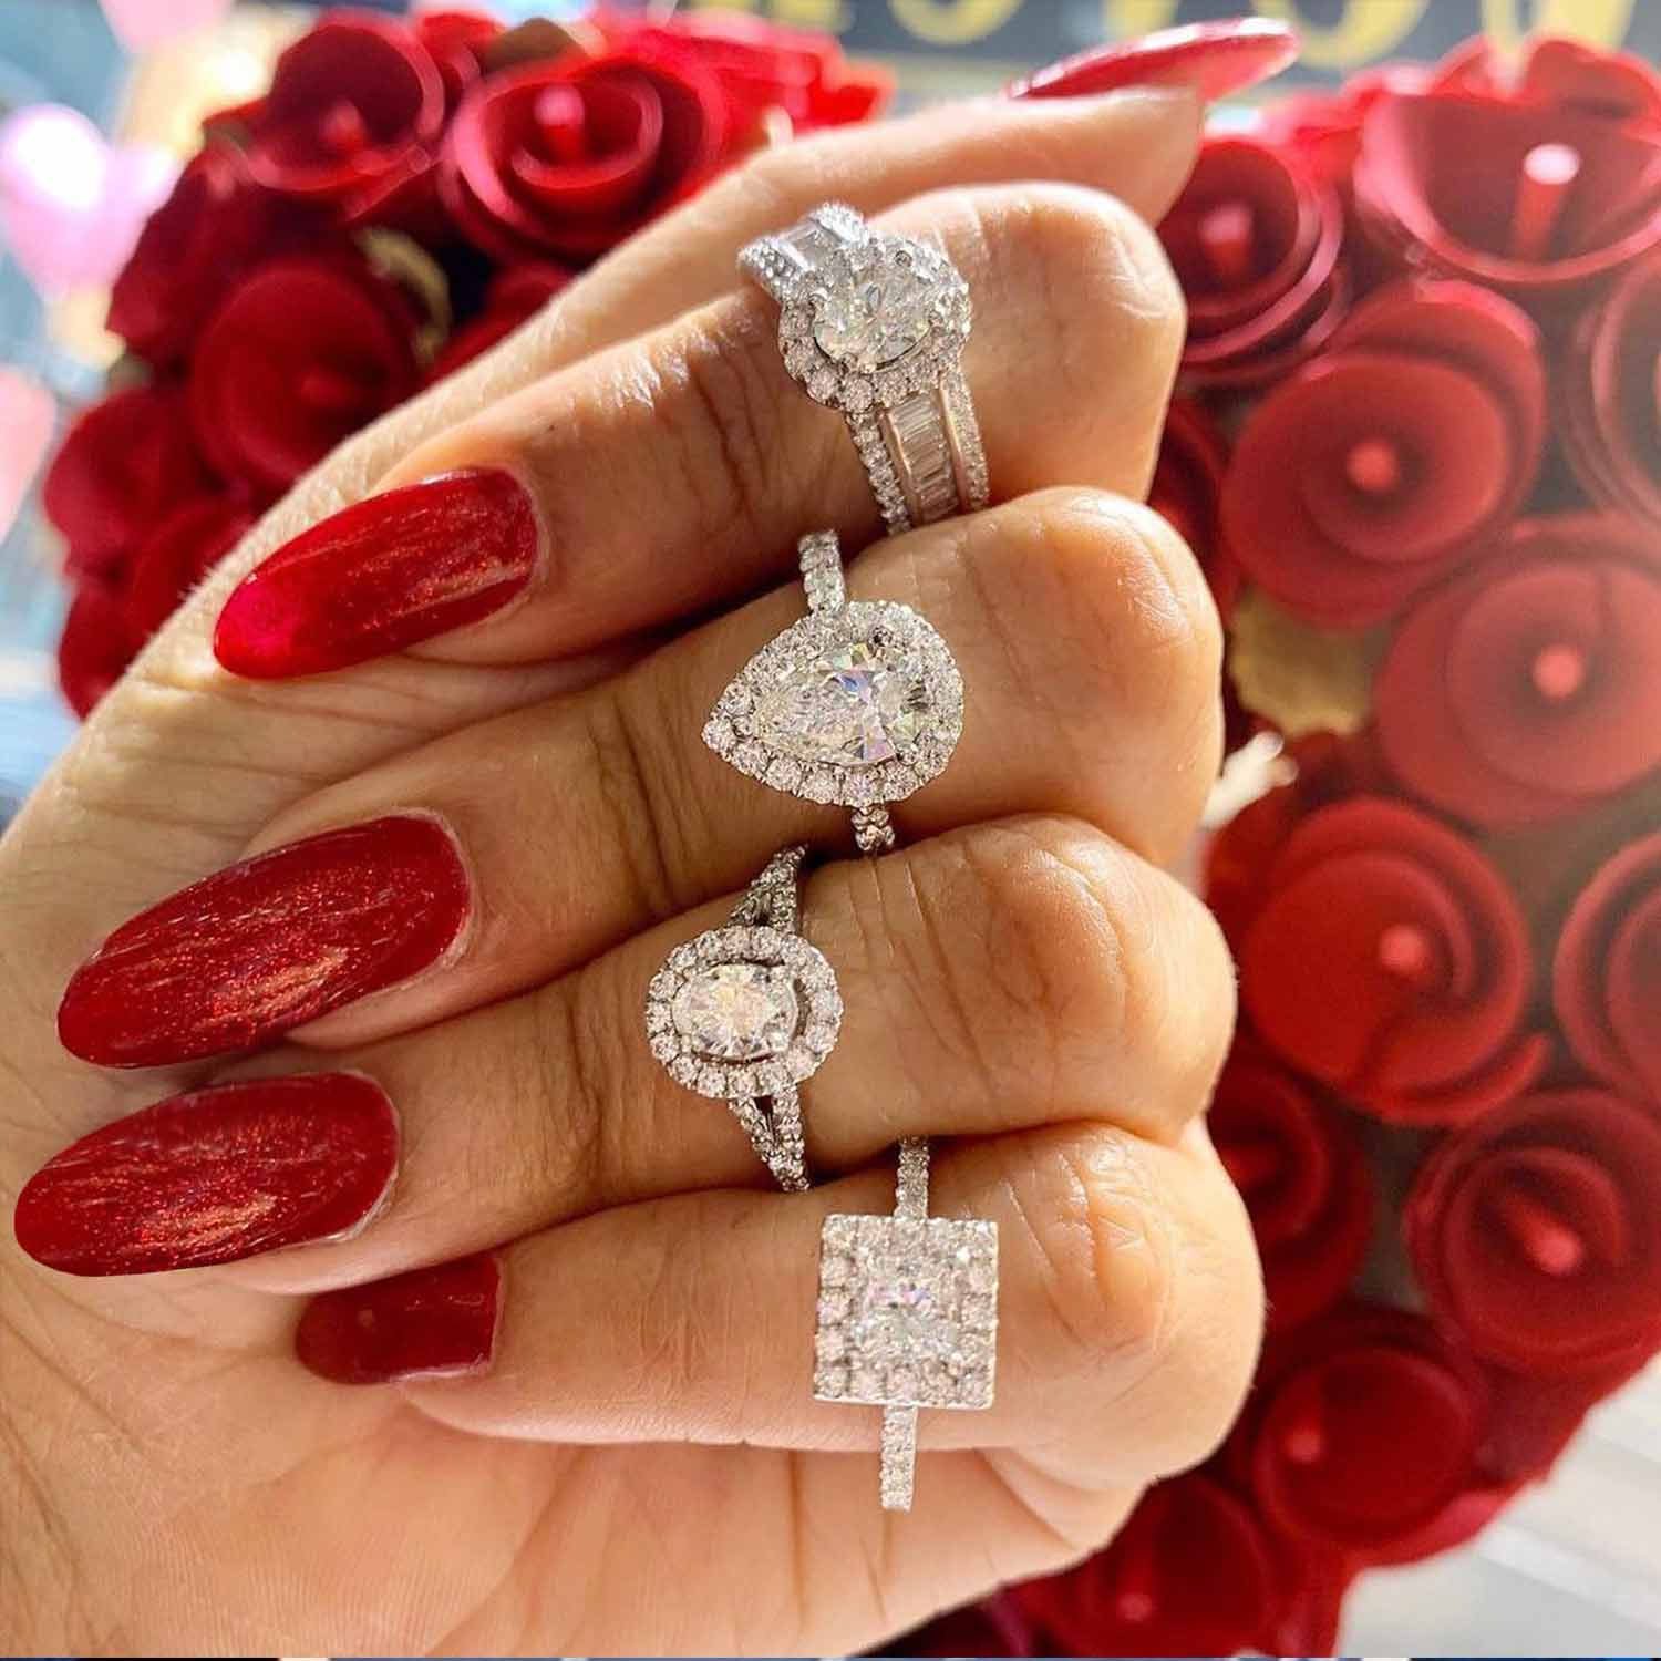
[{"label": "wide-band diamond ring with baguette stones on the top finger", "polygon": [[945,254],[824,203],[737,262],[779,302],[784,367],[847,417],[890,535],[987,505],[960,367],[968,284]]}]

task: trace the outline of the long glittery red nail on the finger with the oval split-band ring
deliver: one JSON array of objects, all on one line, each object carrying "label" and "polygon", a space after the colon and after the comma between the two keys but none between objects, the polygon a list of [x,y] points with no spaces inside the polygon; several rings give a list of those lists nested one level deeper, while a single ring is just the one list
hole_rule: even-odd
[{"label": "long glittery red nail on the finger with the oval split-band ring", "polygon": [[17,1241],[65,1274],[148,1274],[331,1239],[380,1206],[397,1146],[392,1103],[355,1073],[193,1090],[47,1161]]}]

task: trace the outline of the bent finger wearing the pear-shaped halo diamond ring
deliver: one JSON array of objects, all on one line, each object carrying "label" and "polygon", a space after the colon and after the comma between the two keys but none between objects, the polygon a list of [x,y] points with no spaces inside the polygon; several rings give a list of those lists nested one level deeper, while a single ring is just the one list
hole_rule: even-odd
[{"label": "bent finger wearing the pear-shaped halo diamond ring", "polygon": [[[1158,515],[1046,493],[885,541],[852,583],[912,601],[967,688],[950,766],[895,809],[907,835],[1055,812],[1156,862],[1186,845],[1216,776],[1221,636]],[[787,842],[845,845],[842,811],[757,786],[698,736],[799,615],[779,591],[618,681],[321,792],[262,834],[267,857],[125,924],[71,980],[63,1041],[106,1066],[294,1030],[360,1043],[548,980],[741,889]]]}]

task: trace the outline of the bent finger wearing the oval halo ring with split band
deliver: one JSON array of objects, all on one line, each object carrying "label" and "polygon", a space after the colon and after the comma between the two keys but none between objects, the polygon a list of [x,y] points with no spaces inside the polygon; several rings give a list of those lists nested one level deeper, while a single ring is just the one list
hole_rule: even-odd
[{"label": "bent finger wearing the oval halo ring with split band", "polygon": [[[372,1221],[349,1239],[244,1262],[239,1277],[266,1291],[316,1291],[610,1206],[771,1186],[726,1105],[678,1085],[643,1022],[646,985],[669,950],[726,915],[726,904],[713,905],[538,992],[334,1058],[326,1078],[369,1078],[395,1106],[397,1181],[380,1203],[377,1176],[375,1209],[359,1213]],[[902,1136],[1071,1120],[1174,1143],[1203,1111],[1227,1050],[1232,967],[1209,912],[1073,821],[975,826],[882,860],[827,865],[807,887],[804,933],[834,967],[844,1002],[835,1048],[801,1086],[817,1174],[857,1169]],[[286,1051],[238,1075],[296,1065]],[[334,1118],[324,1111],[332,1098],[321,1100],[314,1138]],[[239,1103],[226,1103],[223,1113],[234,1111]],[[213,1124],[206,1115],[201,1123],[208,1138]],[[264,1146],[277,1141],[271,1131]],[[83,1146],[48,1166],[40,1188],[91,1181],[106,1191],[106,1169]],[[224,1158],[208,1146],[209,1164]],[[194,1158],[186,1149],[183,1163]],[[350,1171],[337,1164],[344,1184]],[[50,1174],[55,1166],[61,1176]],[[317,1193],[307,1178],[306,1198]],[[30,1204],[43,1216],[65,1211],[40,1194]],[[149,1266],[151,1209],[161,1204],[146,1188],[120,1226],[108,1213],[85,1226],[71,1218],[53,1267]],[[233,1227],[189,1261],[262,1249]]]}]

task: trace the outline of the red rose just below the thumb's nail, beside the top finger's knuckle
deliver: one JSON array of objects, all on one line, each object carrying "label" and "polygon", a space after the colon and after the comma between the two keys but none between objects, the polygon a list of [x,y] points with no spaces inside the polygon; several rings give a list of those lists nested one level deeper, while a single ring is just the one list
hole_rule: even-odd
[{"label": "red rose just below the thumb's nail, beside the top finger's knuckle", "polygon": [[1183,372],[1247,387],[1286,374],[1344,311],[1344,211],[1291,153],[1209,138],[1159,238],[1188,296]]}]

